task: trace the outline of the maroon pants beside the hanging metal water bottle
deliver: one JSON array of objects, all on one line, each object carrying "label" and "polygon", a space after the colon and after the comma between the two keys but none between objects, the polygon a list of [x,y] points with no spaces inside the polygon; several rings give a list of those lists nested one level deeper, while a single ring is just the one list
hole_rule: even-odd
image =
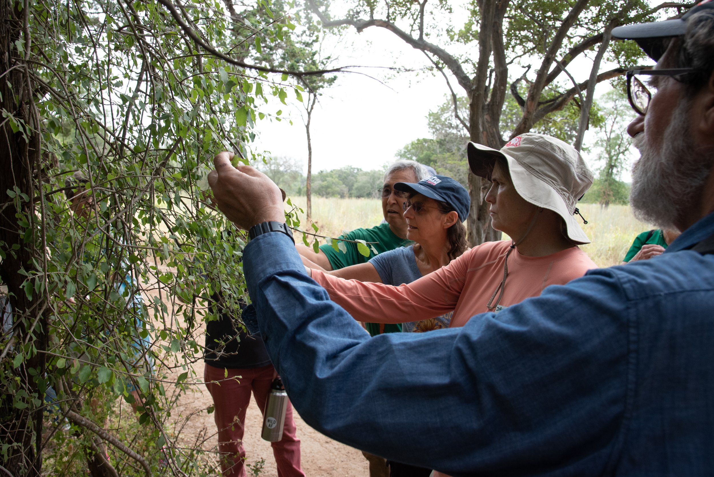
[{"label": "maroon pants beside the hanging metal water bottle", "polygon": [[[265,409],[270,393],[275,368],[272,365],[254,369],[225,370],[206,364],[203,381],[213,397],[216,410],[213,416],[218,426],[218,451],[221,452],[223,477],[245,477],[243,468],[246,451],[243,450],[243,423],[246,421],[246,409],[251,402],[251,391],[256,396],[256,403],[261,413]],[[241,377],[236,377],[241,376]],[[234,378],[234,379],[231,379]],[[211,383],[220,381],[220,383]],[[293,406],[288,401],[285,414],[285,426],[281,441],[271,443],[273,456],[278,464],[278,477],[304,477],[300,468],[300,440],[295,436]]]}]

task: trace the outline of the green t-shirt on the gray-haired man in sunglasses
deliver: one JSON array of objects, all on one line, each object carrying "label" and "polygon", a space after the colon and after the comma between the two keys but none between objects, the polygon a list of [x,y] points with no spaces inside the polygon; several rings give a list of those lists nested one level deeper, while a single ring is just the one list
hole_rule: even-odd
[{"label": "green t-shirt on the gray-haired man in sunglasses", "polygon": [[[411,241],[407,239],[400,239],[394,234],[394,232],[389,228],[389,224],[379,224],[371,229],[354,229],[347,235],[341,235],[339,239],[348,240],[364,240],[368,242],[378,242],[373,243],[374,248],[379,253],[393,250],[395,248],[408,246]],[[320,246],[320,250],[325,252],[327,259],[330,261],[330,265],[333,270],[338,270],[340,268],[345,268],[346,266],[356,265],[357,263],[367,263],[370,258],[374,256],[373,251],[369,251],[369,256],[363,256],[357,251],[357,244],[351,242],[345,242],[347,248],[347,253],[342,251],[335,251],[332,246],[324,244]],[[387,323],[381,325],[384,327],[384,333],[397,333],[401,331],[401,324],[397,323]],[[380,324],[379,323],[365,323],[365,327],[371,336],[380,334]]]}]

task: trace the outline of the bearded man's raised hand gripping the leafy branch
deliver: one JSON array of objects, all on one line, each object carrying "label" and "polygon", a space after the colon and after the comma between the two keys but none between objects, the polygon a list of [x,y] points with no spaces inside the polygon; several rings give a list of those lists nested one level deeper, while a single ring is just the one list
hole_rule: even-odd
[{"label": "bearded man's raised hand gripping the leafy branch", "polygon": [[284,222],[278,186],[251,166],[231,166],[232,158],[233,153],[221,152],[213,158],[216,169],[208,174],[218,210],[243,230],[266,221]]}]

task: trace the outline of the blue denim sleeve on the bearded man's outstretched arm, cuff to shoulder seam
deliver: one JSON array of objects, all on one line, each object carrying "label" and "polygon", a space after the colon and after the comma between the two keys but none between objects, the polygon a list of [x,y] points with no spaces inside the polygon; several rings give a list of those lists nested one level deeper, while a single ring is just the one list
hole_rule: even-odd
[{"label": "blue denim sleeve on the bearded man's outstretched arm, cuff to shoulder seam", "polygon": [[604,473],[632,338],[615,273],[551,286],[463,328],[370,338],[306,276],[288,237],[258,236],[243,261],[271,360],[318,431],[455,477]]}]

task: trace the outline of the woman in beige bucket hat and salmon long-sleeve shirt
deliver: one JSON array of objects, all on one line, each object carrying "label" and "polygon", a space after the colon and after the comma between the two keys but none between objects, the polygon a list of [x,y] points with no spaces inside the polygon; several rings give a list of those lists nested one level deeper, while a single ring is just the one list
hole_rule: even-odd
[{"label": "woman in beige bucket hat and salmon long-sleeve shirt", "polygon": [[543,134],[522,134],[501,151],[468,144],[471,170],[492,181],[486,201],[493,224],[513,241],[486,242],[407,285],[313,278],[358,321],[403,323],[453,310],[450,327],[538,296],[543,288],[583,276],[595,263],[573,218],[593,174],[572,146]]}]

